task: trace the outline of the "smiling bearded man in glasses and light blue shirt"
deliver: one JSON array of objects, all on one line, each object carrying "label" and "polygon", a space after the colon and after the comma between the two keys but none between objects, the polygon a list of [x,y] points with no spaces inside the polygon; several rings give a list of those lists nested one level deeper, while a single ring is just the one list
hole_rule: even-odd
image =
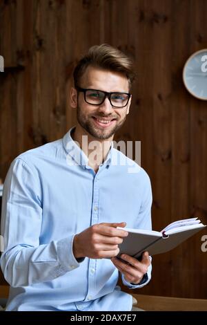
[{"label": "smiling bearded man in glasses and light blue shirt", "polygon": [[129,113],[133,77],[124,53],[90,48],[70,90],[76,127],[12,162],[1,225],[7,310],[131,310],[132,296],[117,287],[119,271],[130,288],[150,281],[148,252],[141,261],[116,258],[126,223],[151,228],[148,175],[130,173],[112,145]]}]

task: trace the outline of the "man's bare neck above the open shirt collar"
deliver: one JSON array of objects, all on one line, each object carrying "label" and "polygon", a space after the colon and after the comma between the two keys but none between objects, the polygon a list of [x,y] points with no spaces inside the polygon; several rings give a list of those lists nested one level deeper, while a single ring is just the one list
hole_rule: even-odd
[{"label": "man's bare neck above the open shirt collar", "polygon": [[88,156],[88,165],[97,172],[99,165],[104,162],[108,155],[113,136],[105,140],[100,140],[91,136],[77,123],[75,130],[71,133],[71,137],[79,143],[84,154]]}]

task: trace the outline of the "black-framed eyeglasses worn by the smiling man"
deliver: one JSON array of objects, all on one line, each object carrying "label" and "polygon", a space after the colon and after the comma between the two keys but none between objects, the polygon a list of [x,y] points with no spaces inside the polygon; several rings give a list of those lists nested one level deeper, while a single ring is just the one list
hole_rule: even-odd
[{"label": "black-framed eyeglasses worn by the smiling man", "polygon": [[108,97],[111,106],[117,109],[125,107],[131,97],[130,93],[108,93],[107,91],[99,91],[97,89],[84,89],[79,86],[76,89],[84,93],[84,100],[88,104],[101,105],[106,100],[106,97]]}]

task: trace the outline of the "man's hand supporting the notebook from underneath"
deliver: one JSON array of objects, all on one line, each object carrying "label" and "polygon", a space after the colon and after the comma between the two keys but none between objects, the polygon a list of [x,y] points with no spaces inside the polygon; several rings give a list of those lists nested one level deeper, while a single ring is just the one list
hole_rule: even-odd
[{"label": "man's hand supporting the notebook from underneath", "polygon": [[137,259],[134,257],[130,257],[126,254],[121,254],[121,259],[124,259],[124,261],[130,265],[115,257],[113,257],[111,261],[124,275],[124,279],[126,279],[126,281],[132,284],[139,284],[143,276],[146,274],[146,272],[148,272],[148,266],[151,264],[148,252],[144,252],[142,254],[141,261],[137,261]]}]

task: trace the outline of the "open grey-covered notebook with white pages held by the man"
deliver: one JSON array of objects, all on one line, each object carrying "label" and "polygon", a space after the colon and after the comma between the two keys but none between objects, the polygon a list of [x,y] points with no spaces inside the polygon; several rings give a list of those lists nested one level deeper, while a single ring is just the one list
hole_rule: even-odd
[{"label": "open grey-covered notebook with white pages held by the man", "polygon": [[161,232],[124,228],[128,236],[119,245],[117,257],[122,253],[139,258],[144,251],[148,251],[150,255],[168,252],[205,227],[199,219],[190,218],[170,223]]}]

